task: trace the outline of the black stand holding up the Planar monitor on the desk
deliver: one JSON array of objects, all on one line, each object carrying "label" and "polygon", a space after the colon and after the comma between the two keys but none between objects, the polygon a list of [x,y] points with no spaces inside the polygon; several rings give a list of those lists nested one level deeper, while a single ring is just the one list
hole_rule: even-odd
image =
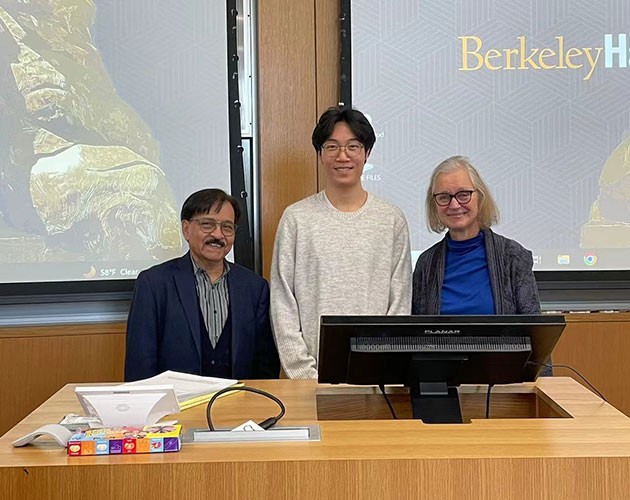
[{"label": "black stand holding up the Planar monitor on the desk", "polygon": [[446,382],[419,382],[409,388],[413,418],[425,424],[461,424],[457,387]]}]

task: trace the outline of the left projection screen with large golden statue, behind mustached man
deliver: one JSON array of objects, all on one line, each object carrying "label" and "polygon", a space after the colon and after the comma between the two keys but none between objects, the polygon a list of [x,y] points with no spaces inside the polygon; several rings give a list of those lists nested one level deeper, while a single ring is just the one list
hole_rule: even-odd
[{"label": "left projection screen with large golden statue, behind mustached man", "polygon": [[226,3],[0,0],[0,281],[134,278],[230,191]]}]

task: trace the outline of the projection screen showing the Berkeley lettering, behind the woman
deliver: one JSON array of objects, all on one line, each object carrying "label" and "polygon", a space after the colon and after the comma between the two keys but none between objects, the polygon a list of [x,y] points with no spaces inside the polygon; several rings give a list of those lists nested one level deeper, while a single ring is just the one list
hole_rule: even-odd
[{"label": "projection screen showing the Berkeley lettering, behind the woman", "polygon": [[535,270],[630,269],[630,3],[343,3],[343,100],[377,132],[364,185],[404,210],[414,261],[442,237],[430,173],[465,155]]}]

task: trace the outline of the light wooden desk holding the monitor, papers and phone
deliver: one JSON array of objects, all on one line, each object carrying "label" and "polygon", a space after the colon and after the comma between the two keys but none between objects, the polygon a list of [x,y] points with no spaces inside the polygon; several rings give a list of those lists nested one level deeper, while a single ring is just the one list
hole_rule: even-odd
[{"label": "light wooden desk holding the monitor, papers and phone", "polygon": [[[317,421],[329,387],[257,382],[287,406],[282,424]],[[509,387],[509,386],[508,386]],[[319,420],[321,442],[188,444],[179,453],[73,457],[52,444],[11,441],[79,407],[66,386],[0,438],[0,491],[11,499],[607,499],[628,498],[630,419],[570,378],[502,388],[536,412],[563,418]],[[470,394],[482,390],[468,388]],[[330,413],[333,412],[333,413]],[[217,425],[264,419],[276,408],[243,393],[217,402]],[[205,407],[179,419],[205,426]]]}]

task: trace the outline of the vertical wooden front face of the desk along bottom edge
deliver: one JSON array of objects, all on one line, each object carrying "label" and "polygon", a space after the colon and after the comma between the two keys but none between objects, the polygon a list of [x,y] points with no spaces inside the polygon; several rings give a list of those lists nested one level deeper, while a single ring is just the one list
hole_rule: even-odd
[{"label": "vertical wooden front face of the desk along bottom edge", "polygon": [[[75,460],[82,460],[83,457]],[[277,460],[3,472],[13,500],[626,500],[625,458]],[[68,469],[68,470],[66,470]]]}]

